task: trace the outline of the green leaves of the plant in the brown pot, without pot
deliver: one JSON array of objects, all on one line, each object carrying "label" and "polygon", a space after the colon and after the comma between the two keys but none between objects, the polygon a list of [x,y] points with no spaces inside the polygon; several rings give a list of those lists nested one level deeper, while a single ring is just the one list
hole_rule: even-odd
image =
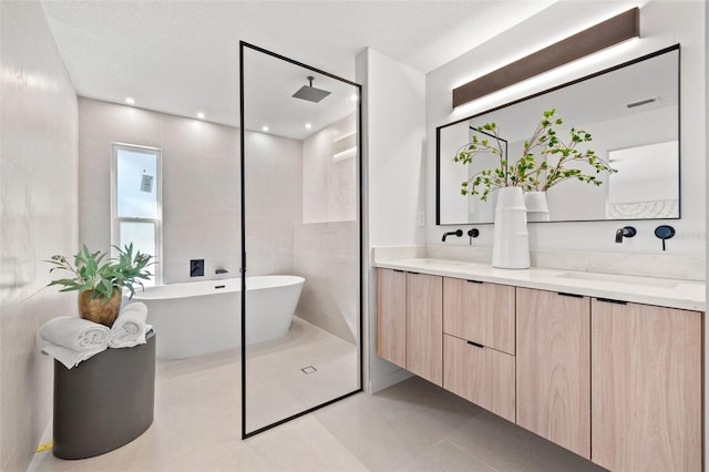
[{"label": "green leaves of the plant in the brown pot, without pot", "polygon": [[151,261],[153,257],[140,250],[134,252],[132,243],[123,249],[113,247],[117,252],[116,258],[106,258],[106,254],[102,252],[92,253],[85,245],[82,245],[81,250],[73,256],[73,264],[65,256],[52,256],[50,260],[45,260],[54,265],[50,273],[59,269],[66,270],[73,276],[52,280],[48,287],[63,286],[64,288],[59,291],[92,290],[90,299],[102,297],[104,302],[111,299],[113,290],[125,288],[130,294],[129,298],[133,298],[134,286],[143,287],[141,280],[147,280],[152,276],[146,268],[154,264]]}]

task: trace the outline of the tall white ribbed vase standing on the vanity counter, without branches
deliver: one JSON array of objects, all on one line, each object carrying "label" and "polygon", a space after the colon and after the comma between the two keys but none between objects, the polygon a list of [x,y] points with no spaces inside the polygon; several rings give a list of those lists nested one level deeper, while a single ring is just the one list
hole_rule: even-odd
[{"label": "tall white ribbed vase standing on the vanity counter, without branches", "polygon": [[520,187],[497,189],[493,228],[492,266],[502,269],[530,267],[527,209]]}]

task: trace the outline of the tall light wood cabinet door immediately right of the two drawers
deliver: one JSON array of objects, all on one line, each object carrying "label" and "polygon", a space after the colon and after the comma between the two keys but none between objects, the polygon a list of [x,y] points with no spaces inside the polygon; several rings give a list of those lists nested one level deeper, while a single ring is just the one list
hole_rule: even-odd
[{"label": "tall light wood cabinet door immediately right of the two drawers", "polygon": [[517,424],[590,459],[590,300],[517,288]]}]

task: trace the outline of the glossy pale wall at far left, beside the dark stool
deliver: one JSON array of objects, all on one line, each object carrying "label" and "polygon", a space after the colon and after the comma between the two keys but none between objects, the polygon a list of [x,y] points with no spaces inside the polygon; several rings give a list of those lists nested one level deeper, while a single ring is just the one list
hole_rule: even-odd
[{"label": "glossy pale wall at far left, beside the dark stool", "polygon": [[0,9],[0,470],[22,471],[51,417],[38,329],[76,310],[43,263],[78,249],[76,95],[40,3]]}]

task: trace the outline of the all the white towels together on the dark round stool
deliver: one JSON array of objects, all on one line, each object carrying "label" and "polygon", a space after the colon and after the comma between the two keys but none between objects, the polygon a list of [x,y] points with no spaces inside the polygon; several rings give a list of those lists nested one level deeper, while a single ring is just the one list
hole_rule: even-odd
[{"label": "all the white towels together on the dark round stool", "polygon": [[146,319],[147,307],[141,301],[126,305],[111,328],[82,318],[53,318],[40,329],[40,337],[45,341],[42,353],[71,369],[109,348],[144,345],[145,335],[153,328]]}]

